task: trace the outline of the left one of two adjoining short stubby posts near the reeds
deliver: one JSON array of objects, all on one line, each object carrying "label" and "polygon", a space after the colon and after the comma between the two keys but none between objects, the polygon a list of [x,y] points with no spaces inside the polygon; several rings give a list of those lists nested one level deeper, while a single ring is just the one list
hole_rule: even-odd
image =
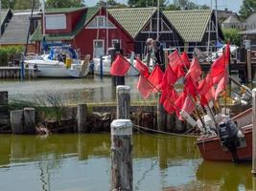
[{"label": "left one of two adjoining short stubby posts near the reeds", "polygon": [[23,134],[23,110],[11,111],[12,134]]}]

